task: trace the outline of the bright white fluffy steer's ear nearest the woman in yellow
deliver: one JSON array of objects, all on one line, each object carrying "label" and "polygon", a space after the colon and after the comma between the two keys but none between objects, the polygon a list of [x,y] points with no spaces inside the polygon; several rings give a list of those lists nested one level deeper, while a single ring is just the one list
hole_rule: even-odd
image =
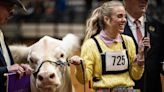
[{"label": "bright white fluffy steer's ear nearest the woman in yellow", "polygon": [[63,38],[62,47],[65,49],[68,57],[80,52],[80,38],[74,34],[67,34]]}]

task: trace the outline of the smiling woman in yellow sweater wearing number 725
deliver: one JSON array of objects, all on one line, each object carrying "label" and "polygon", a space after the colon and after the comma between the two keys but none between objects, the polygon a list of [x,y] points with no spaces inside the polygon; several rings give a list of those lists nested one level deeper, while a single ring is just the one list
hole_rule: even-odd
[{"label": "smiling woman in yellow sweater wearing number 725", "polygon": [[[145,39],[138,54],[131,37],[121,34],[126,24],[126,11],[120,1],[108,1],[96,8],[86,24],[81,56],[69,62],[76,65],[80,83],[90,82],[96,92],[132,92],[134,81],[144,72]],[[84,72],[83,72],[84,71]]]}]

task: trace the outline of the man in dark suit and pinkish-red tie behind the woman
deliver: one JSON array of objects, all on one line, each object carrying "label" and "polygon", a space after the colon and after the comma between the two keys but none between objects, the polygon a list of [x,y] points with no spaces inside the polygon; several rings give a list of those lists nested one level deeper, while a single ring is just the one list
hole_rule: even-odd
[{"label": "man in dark suit and pinkish-red tie behind the woman", "polygon": [[[135,81],[134,88],[141,92],[162,92],[161,65],[162,49],[159,42],[163,25],[146,14],[148,0],[123,0],[127,11],[127,24],[123,34],[131,36],[138,51],[139,40],[149,39],[150,48],[145,47],[145,71],[140,80]],[[163,33],[162,33],[163,34]],[[138,52],[136,52],[137,54]],[[162,58],[161,58],[161,57]]]}]

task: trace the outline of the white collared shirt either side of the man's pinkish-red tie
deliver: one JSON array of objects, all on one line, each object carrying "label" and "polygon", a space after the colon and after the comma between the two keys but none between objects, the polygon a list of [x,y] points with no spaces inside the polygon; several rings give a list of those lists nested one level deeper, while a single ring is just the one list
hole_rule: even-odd
[{"label": "white collared shirt either side of the man's pinkish-red tie", "polygon": [[[138,20],[141,22],[140,29],[141,29],[142,37],[144,37],[145,36],[145,31],[144,31],[145,30],[145,27],[144,27],[145,26],[145,23],[144,23],[145,18],[144,18],[144,16],[142,16]],[[133,36],[134,36],[136,42],[138,42],[137,32],[136,32],[136,24],[134,23],[135,19],[128,13],[127,13],[127,21],[128,21],[128,25],[129,25],[130,29],[132,30],[132,33],[133,33]]]}]

